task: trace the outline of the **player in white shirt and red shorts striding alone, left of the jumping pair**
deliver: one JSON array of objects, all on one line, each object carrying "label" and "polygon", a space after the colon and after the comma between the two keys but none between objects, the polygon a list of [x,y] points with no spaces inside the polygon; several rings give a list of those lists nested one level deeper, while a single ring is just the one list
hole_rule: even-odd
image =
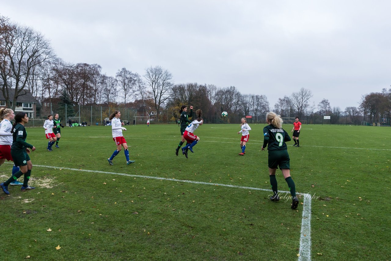
[{"label": "player in white shirt and red shorts striding alone, left of the jumping pair", "polygon": [[117,154],[121,151],[121,146],[124,147],[126,164],[129,165],[135,162],[135,160],[129,159],[129,150],[127,149],[127,143],[124,138],[124,135],[122,135],[122,130],[126,130],[126,128],[122,127],[122,125],[125,124],[124,122],[121,122],[120,117],[121,112],[118,110],[115,110],[113,113],[111,113],[109,117],[109,120],[111,121],[111,132],[113,134],[113,140],[115,141],[115,145],[117,145],[117,149],[113,152],[113,155],[111,155],[111,157],[107,159],[110,165],[113,165],[113,158],[117,156]]}]

